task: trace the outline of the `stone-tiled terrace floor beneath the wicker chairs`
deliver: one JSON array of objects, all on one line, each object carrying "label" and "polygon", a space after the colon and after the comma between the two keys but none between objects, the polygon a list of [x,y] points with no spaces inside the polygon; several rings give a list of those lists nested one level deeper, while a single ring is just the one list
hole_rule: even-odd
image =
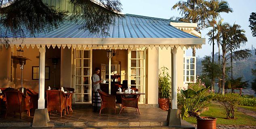
[{"label": "stone-tiled terrace floor beneath the wicker chairs", "polygon": [[[93,112],[92,108],[73,109],[73,112],[60,117],[60,113],[52,112],[48,128],[169,128],[166,117],[167,111],[160,108],[140,108],[141,114],[135,108],[125,108],[119,114],[120,106],[117,105],[116,113],[113,110],[105,109],[101,112]],[[0,128],[20,128],[29,127],[33,123],[34,111],[28,117],[25,112],[22,113],[22,118],[19,119],[19,113],[13,117],[13,113],[7,114],[4,119],[4,114],[0,115]],[[182,121],[182,127],[175,129],[194,129],[194,127]]]}]

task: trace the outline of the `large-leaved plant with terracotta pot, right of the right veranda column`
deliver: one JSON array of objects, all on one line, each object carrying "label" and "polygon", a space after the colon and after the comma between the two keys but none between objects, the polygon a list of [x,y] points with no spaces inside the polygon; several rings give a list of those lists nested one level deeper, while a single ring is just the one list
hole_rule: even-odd
[{"label": "large-leaved plant with terracotta pot, right of the right veranda column", "polygon": [[210,87],[203,88],[197,92],[193,89],[182,90],[180,93],[185,98],[185,104],[181,109],[181,117],[191,116],[197,119],[197,129],[216,129],[215,117],[200,117],[197,112],[208,104],[214,96],[207,94],[210,91]]}]

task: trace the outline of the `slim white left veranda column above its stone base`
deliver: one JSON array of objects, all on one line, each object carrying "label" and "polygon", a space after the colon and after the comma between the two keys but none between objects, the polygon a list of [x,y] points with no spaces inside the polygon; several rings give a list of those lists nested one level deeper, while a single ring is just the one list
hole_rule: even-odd
[{"label": "slim white left veranda column above its stone base", "polygon": [[39,48],[39,99],[38,109],[45,108],[44,100],[44,79],[45,79],[45,46]]}]

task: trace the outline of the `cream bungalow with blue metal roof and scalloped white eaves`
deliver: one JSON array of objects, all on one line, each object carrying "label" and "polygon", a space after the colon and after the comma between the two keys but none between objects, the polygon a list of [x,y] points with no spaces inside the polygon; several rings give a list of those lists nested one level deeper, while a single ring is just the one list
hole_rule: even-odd
[{"label": "cream bungalow with blue metal roof and scalloped white eaves", "polygon": [[[38,109],[45,108],[48,86],[72,87],[73,103],[90,104],[91,77],[99,67],[101,79],[108,83],[102,86],[109,94],[111,83],[127,83],[145,93],[141,104],[157,107],[159,69],[165,66],[172,73],[172,109],[177,109],[177,89],[196,79],[195,57],[186,56],[186,50],[205,44],[195,27],[196,23],[126,14],[110,26],[107,37],[79,30],[79,24],[72,21],[24,40],[13,40],[9,34],[10,47],[0,51],[0,87],[23,85],[39,92]],[[23,80],[19,62],[12,58],[21,48],[23,57],[29,58],[23,66]]]}]

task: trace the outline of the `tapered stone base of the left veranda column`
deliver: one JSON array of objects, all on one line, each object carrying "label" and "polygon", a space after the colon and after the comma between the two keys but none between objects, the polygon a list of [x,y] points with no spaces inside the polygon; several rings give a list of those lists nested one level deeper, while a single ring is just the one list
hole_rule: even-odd
[{"label": "tapered stone base of the left veranda column", "polygon": [[33,119],[32,127],[48,127],[50,121],[47,108],[36,109]]}]

